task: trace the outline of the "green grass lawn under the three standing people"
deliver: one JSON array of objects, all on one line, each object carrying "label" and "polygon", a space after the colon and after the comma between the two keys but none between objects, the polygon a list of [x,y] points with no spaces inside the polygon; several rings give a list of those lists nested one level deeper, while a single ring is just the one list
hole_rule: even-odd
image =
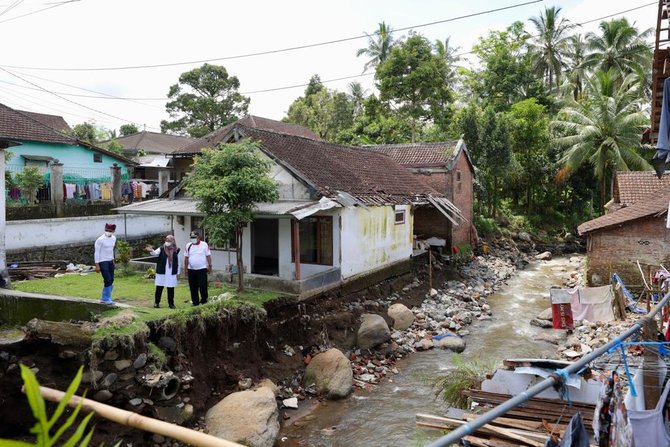
[{"label": "green grass lawn under the three standing people", "polygon": [[[151,308],[154,303],[154,280],[144,279],[142,275],[143,273],[139,272],[122,274],[117,270],[114,278],[112,299],[120,303]],[[13,283],[13,285],[16,290],[23,292],[76,296],[97,301],[100,299],[100,292],[102,290],[102,276],[98,273],[89,273],[87,275],[72,274],[60,278],[18,281]],[[262,306],[264,302],[281,296],[277,292],[257,289],[247,289],[244,294],[238,295],[236,286],[234,285],[223,283],[220,287],[216,287],[214,282],[209,281],[210,298],[225,292],[233,292],[236,295],[234,298],[236,302],[246,302],[258,306]],[[180,278],[179,285],[175,288],[175,305],[179,309],[190,307],[190,303],[191,295],[188,289],[188,281],[185,278]],[[161,311],[163,310],[162,308],[169,310],[167,309],[167,290],[163,290]]]}]

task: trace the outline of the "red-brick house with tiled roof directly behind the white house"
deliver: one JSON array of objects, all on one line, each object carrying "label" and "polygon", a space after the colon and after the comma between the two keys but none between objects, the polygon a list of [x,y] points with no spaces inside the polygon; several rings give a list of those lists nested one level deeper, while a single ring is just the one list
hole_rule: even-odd
[{"label": "red-brick house with tiled roof directly behind the white house", "polygon": [[[398,164],[421,177],[424,183],[432,186],[451,201],[465,217],[465,222],[449,222],[443,225],[437,210],[422,208],[415,216],[416,234],[439,236],[447,241],[447,247],[473,244],[477,239],[474,226],[474,190],[475,168],[472,159],[460,140],[437,143],[407,143],[364,146],[365,149],[388,155]],[[421,227],[420,225],[426,225]]]}]

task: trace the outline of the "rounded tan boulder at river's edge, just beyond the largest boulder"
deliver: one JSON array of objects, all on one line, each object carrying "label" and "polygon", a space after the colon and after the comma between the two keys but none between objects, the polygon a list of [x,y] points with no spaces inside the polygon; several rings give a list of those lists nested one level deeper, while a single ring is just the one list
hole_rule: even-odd
[{"label": "rounded tan boulder at river's edge, just beyond the largest boulder", "polygon": [[351,393],[354,374],[342,351],[331,348],[317,354],[305,369],[305,387],[314,384],[327,399],[341,399]]}]

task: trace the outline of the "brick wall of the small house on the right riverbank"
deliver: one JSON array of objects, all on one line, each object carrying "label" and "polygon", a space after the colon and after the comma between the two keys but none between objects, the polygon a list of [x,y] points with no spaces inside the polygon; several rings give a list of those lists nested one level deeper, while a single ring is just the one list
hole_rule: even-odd
[{"label": "brick wall of the small house on the right riverbank", "polygon": [[603,229],[589,234],[587,241],[587,278],[594,274],[604,283],[616,272],[625,284],[642,284],[637,267],[652,272],[660,264],[670,266],[670,230],[665,228],[665,216],[646,217],[621,227]]}]

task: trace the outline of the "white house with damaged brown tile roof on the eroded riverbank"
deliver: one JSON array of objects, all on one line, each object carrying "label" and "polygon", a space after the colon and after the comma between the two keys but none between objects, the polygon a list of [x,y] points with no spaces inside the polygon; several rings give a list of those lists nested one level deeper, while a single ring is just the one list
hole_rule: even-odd
[{"label": "white house with damaged brown tile roof on the eroded riverbank", "polygon": [[[292,130],[299,126],[268,129],[270,120],[262,127],[258,121],[240,120],[173,154],[192,160],[205,147],[249,138],[272,163],[280,198],[257,204],[243,236],[250,284],[304,297],[370,275],[379,281],[407,271],[418,209],[436,208],[444,221],[464,221],[443,194],[385,154],[297,135]],[[118,211],[170,216],[180,245],[193,229],[207,235],[203,213],[187,191]],[[216,248],[212,258],[215,270],[234,268],[235,248]]]}]

